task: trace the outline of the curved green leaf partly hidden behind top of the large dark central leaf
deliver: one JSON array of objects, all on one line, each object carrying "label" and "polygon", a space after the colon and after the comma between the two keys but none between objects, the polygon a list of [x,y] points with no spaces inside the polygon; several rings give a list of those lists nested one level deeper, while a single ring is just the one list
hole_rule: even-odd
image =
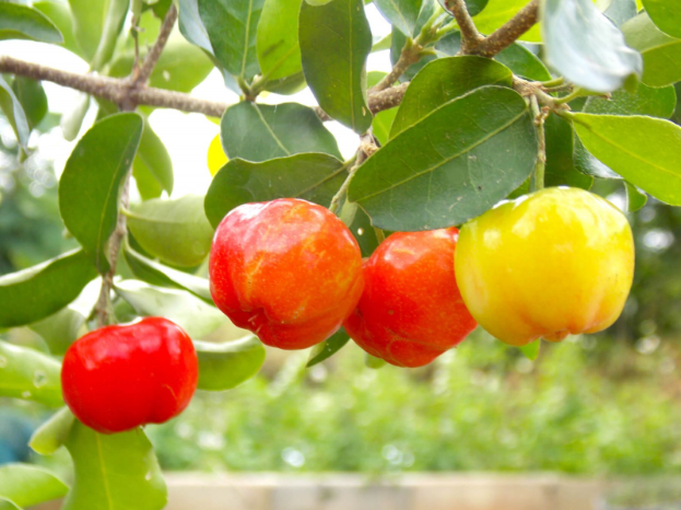
[{"label": "curved green leaf partly hidden behind top of the large dark central leaf", "polygon": [[510,70],[483,57],[447,57],[427,63],[404,93],[390,138],[413,126],[444,103],[483,85],[512,86]]}]

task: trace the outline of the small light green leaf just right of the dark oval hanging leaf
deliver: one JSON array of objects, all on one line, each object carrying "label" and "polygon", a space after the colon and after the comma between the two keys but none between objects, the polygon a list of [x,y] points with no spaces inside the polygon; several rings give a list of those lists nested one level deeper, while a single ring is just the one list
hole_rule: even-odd
[{"label": "small light green leaf just right of the dark oval hanging leaf", "polygon": [[140,147],[132,162],[132,176],[143,200],[157,198],[162,192],[173,193],[173,161],[163,141],[144,117]]}]

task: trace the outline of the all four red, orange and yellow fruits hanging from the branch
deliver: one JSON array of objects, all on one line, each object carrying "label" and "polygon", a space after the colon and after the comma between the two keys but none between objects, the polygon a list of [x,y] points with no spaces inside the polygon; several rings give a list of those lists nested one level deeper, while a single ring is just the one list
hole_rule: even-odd
[{"label": "all four red, orange and yellow fruits hanging from the branch", "polygon": [[[620,315],[633,270],[624,215],[564,187],[503,202],[460,232],[394,233],[364,262],[324,207],[246,204],[218,227],[209,265],[215,305],[262,343],[304,349],[342,325],[400,367],[430,363],[477,324],[514,346],[601,331]],[[85,425],[116,432],[179,414],[197,371],[191,340],[169,321],[108,326],[67,352],[64,399]]]}]

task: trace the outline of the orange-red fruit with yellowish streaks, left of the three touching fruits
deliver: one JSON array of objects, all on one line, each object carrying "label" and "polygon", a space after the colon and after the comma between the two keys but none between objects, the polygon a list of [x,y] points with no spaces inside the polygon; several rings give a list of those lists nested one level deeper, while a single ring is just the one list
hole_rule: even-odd
[{"label": "orange-red fruit with yellowish streaks, left of the three touching fruits", "polygon": [[215,305],[281,349],[327,339],[364,288],[362,254],[348,228],[295,198],[230,211],[215,231],[209,271]]}]

